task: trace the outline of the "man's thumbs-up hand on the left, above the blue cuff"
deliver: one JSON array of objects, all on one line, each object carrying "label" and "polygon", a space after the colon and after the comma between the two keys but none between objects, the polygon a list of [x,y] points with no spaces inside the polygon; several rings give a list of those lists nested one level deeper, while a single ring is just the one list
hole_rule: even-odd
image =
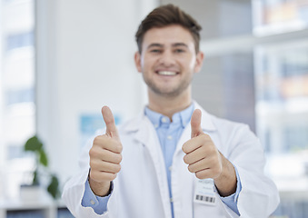
[{"label": "man's thumbs-up hand on the left, above the blue cuff", "polygon": [[97,196],[106,196],[109,193],[110,183],[121,170],[122,144],[117,132],[114,115],[109,107],[102,108],[106,132],[94,138],[90,149],[89,183]]}]

